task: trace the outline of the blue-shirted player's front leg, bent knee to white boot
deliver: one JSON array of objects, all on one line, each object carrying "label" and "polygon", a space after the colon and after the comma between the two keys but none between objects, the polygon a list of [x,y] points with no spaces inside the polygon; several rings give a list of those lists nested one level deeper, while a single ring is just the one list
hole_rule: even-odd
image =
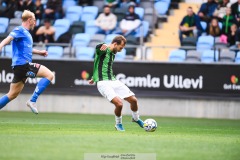
[{"label": "blue-shirted player's front leg, bent knee to white boot", "polygon": [[27,101],[27,106],[32,110],[33,113],[38,114],[37,110],[37,99],[47,88],[54,78],[53,73],[45,66],[41,65],[37,77],[43,77],[37,84],[36,89],[33,92],[33,95],[30,100]]}]

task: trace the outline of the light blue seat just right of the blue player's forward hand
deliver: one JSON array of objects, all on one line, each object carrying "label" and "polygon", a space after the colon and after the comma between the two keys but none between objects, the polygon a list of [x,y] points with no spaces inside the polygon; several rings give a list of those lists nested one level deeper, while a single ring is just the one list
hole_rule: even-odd
[{"label": "light blue seat just right of the blue player's forward hand", "polygon": [[46,58],[48,59],[60,59],[63,56],[63,47],[60,46],[49,46],[47,51],[48,56]]}]

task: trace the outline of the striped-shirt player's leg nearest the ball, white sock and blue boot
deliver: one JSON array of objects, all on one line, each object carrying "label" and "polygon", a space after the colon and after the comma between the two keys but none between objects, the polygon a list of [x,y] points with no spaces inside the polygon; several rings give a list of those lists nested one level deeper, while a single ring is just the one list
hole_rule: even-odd
[{"label": "striped-shirt player's leg nearest the ball, white sock and blue boot", "polygon": [[139,118],[137,98],[135,96],[130,96],[125,98],[125,100],[130,103],[130,107],[132,110],[132,121],[136,122],[140,127],[143,128],[144,123]]}]

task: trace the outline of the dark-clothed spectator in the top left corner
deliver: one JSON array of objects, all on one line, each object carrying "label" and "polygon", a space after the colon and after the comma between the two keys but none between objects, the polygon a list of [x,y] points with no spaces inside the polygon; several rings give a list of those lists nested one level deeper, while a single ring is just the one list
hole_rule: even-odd
[{"label": "dark-clothed spectator in the top left corner", "polygon": [[3,0],[2,3],[6,5],[5,10],[1,14],[2,17],[14,18],[14,12],[18,8],[18,0]]}]

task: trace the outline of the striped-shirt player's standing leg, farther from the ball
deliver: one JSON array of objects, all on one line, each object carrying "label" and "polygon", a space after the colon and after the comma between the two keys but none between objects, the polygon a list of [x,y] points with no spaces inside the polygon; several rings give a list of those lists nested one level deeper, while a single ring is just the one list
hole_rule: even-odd
[{"label": "striped-shirt player's standing leg, farther from the ball", "polygon": [[111,102],[115,105],[115,110],[114,110],[115,121],[116,121],[115,128],[118,131],[125,131],[122,125],[122,107],[123,107],[122,100],[119,97],[115,97],[112,99]]}]

